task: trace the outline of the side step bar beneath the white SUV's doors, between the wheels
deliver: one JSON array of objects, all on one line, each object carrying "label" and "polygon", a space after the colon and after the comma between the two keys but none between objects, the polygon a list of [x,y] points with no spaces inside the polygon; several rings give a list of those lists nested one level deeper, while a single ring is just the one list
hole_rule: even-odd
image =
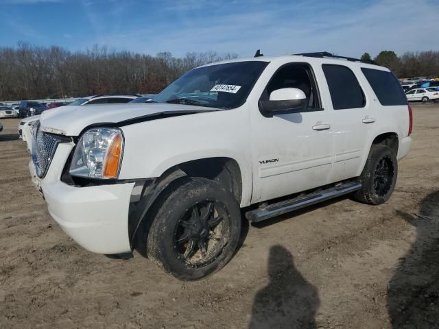
[{"label": "side step bar beneath the white SUV's doors, between the wheels", "polygon": [[357,191],[360,188],[361,184],[359,182],[344,182],[340,185],[325,188],[324,190],[315,191],[307,195],[299,195],[293,199],[250,210],[246,212],[246,218],[249,221],[258,223],[259,221],[265,221],[265,219],[283,215],[287,212],[311,206],[312,204],[318,204],[319,202],[332,199],[333,197],[339,197],[340,195]]}]

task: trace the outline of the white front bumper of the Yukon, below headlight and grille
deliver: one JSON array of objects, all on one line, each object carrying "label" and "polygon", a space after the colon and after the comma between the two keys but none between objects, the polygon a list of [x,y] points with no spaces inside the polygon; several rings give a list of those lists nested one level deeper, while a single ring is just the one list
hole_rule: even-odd
[{"label": "white front bumper of the Yukon, below headlight and grille", "polygon": [[51,217],[79,245],[90,252],[131,252],[128,208],[134,182],[75,187],[61,182],[62,169],[73,143],[58,145],[43,180],[29,162],[32,181],[43,193]]}]

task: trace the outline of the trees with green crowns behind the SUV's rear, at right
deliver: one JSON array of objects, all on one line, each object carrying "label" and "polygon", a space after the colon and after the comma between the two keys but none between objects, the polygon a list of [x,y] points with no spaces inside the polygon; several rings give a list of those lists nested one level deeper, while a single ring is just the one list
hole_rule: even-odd
[{"label": "trees with green crowns behind the SUV's rear, at right", "polygon": [[[364,53],[361,60],[372,58]],[[439,51],[407,51],[399,57],[394,51],[383,50],[373,60],[388,67],[396,77],[439,77]]]}]

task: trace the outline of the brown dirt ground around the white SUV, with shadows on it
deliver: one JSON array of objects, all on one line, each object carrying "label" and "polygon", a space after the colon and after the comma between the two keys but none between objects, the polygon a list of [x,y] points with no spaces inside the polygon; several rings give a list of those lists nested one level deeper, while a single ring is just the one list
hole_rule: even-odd
[{"label": "brown dirt ground around the white SUV, with shadows on it", "polygon": [[389,202],[247,226],[222,271],[189,283],[69,239],[30,181],[18,122],[1,121],[0,328],[439,328],[439,104],[414,107]]}]

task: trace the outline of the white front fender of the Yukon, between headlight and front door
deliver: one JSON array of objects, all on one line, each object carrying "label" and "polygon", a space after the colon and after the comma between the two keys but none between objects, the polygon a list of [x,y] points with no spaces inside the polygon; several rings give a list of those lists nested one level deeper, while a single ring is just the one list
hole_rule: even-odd
[{"label": "white front fender of the Yukon, between headlight and front door", "polygon": [[125,137],[119,179],[160,177],[177,164],[227,157],[241,169],[241,206],[250,204],[252,170],[244,106],[156,119],[121,127]]}]

